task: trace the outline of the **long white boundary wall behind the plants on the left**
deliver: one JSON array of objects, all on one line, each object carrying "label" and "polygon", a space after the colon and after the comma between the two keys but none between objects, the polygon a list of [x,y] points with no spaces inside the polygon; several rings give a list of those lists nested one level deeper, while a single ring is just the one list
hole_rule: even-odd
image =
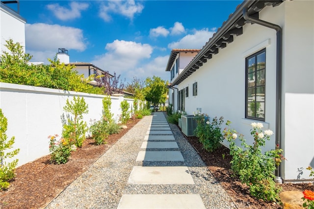
[{"label": "long white boundary wall behind the plants on the left", "polygon": [[[0,108],[8,120],[6,134],[8,139],[15,136],[14,149],[20,148],[15,157],[19,159],[18,166],[49,154],[48,136],[61,136],[61,115],[66,115],[63,107],[67,99],[72,101],[74,96],[83,97],[88,104],[88,114],[83,115],[88,126],[90,120],[101,119],[104,95],[0,82]],[[111,113],[116,122],[123,100],[128,101],[131,110],[132,99],[111,96]]]}]

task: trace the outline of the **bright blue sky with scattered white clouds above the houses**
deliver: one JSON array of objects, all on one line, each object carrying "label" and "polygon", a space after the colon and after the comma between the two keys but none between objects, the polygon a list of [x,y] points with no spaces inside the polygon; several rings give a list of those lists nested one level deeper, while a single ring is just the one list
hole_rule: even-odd
[{"label": "bright blue sky with scattered white clouds above the houses", "polygon": [[241,0],[21,0],[26,52],[49,63],[58,48],[126,78],[165,72],[172,49],[201,49]]}]

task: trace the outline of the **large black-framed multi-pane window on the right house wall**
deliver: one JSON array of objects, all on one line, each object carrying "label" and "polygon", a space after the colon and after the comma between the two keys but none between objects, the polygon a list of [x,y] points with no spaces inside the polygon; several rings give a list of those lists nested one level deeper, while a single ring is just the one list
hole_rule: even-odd
[{"label": "large black-framed multi-pane window on the right house wall", "polygon": [[265,53],[257,52],[245,59],[245,117],[265,121]]}]

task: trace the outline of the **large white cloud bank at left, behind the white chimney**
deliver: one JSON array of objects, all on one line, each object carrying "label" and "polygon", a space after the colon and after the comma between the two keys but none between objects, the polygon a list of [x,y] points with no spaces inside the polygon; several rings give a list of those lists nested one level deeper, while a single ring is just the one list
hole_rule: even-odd
[{"label": "large white cloud bank at left, behind the white chimney", "polygon": [[[33,55],[32,60],[45,62],[53,58],[58,48],[84,51],[83,31],[79,28],[48,25],[43,23],[26,24],[25,26],[26,52]],[[53,52],[53,55],[51,56]],[[40,60],[45,57],[45,60]]]}]

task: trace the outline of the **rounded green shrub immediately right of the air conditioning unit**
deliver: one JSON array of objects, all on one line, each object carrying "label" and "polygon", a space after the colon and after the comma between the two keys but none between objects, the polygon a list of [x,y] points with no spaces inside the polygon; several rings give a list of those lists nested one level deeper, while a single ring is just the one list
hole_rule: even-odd
[{"label": "rounded green shrub immediately right of the air conditioning unit", "polygon": [[210,123],[209,117],[206,115],[202,115],[197,119],[197,127],[194,133],[203,144],[203,148],[208,152],[213,152],[221,146],[221,142],[224,140],[221,133],[221,124],[223,122],[223,117],[219,119],[214,117]]}]

